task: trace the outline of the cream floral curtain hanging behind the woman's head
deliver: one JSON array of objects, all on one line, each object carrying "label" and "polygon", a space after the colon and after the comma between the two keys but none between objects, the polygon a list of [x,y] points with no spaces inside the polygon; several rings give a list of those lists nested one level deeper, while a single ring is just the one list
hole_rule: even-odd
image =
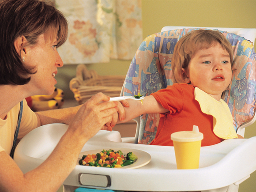
[{"label": "cream floral curtain hanging behind the woman's head", "polygon": [[69,23],[64,64],[132,60],[142,42],[141,0],[54,0]]}]

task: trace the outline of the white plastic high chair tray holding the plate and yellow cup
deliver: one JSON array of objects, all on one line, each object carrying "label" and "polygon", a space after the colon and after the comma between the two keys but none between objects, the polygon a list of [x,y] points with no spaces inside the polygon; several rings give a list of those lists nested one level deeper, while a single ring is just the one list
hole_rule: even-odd
[{"label": "white plastic high chair tray holding the plate and yellow cup", "polygon": [[[23,173],[36,168],[49,156],[67,128],[65,124],[41,126],[19,142],[14,160]],[[137,169],[77,165],[64,184],[130,191],[199,191],[222,188],[236,182],[239,184],[256,170],[256,137],[229,139],[217,145],[201,147],[200,168],[186,170],[177,169],[173,147],[121,142],[119,132],[100,131],[84,145],[81,152],[129,148],[147,152],[151,161]],[[237,168],[237,165],[241,166]],[[109,186],[82,185],[79,183],[80,173],[89,173],[96,178],[98,175],[106,176]]]}]

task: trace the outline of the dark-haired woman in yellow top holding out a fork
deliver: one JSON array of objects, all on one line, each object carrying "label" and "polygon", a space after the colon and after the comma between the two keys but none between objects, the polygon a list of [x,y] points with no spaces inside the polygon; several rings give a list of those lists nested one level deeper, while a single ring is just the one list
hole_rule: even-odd
[{"label": "dark-haired woman in yellow top holding out a fork", "polygon": [[[24,98],[54,91],[63,66],[56,48],[66,41],[67,21],[49,2],[0,0],[0,26],[0,191],[57,191],[88,139],[111,130],[124,110],[99,93],[78,107],[32,112]],[[44,124],[69,124],[49,158],[26,174],[10,157],[21,109],[18,138]]]}]

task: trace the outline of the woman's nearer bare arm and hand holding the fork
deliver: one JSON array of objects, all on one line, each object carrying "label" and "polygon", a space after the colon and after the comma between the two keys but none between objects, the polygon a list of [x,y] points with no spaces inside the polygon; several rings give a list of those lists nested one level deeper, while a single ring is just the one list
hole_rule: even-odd
[{"label": "woman's nearer bare arm and hand holding the fork", "polygon": [[73,120],[69,121],[68,130],[52,154],[40,166],[26,174],[22,173],[5,151],[1,151],[0,191],[56,192],[75,168],[84,144],[112,119],[113,113],[117,112],[117,102],[106,101],[109,101],[109,97],[97,94],[81,105],[73,115]]}]

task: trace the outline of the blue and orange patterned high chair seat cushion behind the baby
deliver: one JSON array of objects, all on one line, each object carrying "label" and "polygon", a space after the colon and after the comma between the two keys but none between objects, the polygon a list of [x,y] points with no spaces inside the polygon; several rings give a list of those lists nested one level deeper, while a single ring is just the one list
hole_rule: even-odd
[{"label": "blue and orange patterned high chair seat cushion behind the baby", "polygon": [[[198,28],[199,29],[199,28]],[[172,85],[171,61],[177,41],[192,30],[163,31],[148,36],[134,56],[124,82],[124,95],[150,95]],[[233,46],[233,78],[222,99],[227,102],[233,116],[234,129],[255,113],[256,54],[252,42],[236,34],[222,32]],[[140,117],[138,143],[149,144],[154,139],[159,114]]]}]

